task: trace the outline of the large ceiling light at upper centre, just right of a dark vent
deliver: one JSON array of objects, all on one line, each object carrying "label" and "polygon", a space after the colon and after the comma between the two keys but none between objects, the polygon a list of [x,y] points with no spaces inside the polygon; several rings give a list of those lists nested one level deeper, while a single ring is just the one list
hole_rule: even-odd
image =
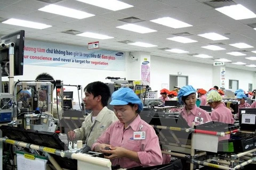
[{"label": "large ceiling light at upper centre, just right of a dark vent", "polygon": [[192,27],[193,26],[186,22],[182,22],[182,21],[170,18],[170,17],[158,18],[156,20],[150,20],[150,21],[159,23],[161,25],[165,25],[165,26],[171,27],[171,28],[184,28],[184,27]]}]

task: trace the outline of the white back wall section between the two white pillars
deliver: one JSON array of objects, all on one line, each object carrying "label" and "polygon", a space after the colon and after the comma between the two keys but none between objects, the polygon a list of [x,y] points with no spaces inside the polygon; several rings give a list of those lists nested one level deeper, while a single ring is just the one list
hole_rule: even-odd
[{"label": "white back wall section between the two white pillars", "polygon": [[211,65],[151,56],[150,67],[150,86],[152,90],[160,91],[162,83],[169,84],[169,75],[178,75],[177,72],[187,75],[188,84],[192,85],[195,89],[204,88],[209,90],[212,87]]}]

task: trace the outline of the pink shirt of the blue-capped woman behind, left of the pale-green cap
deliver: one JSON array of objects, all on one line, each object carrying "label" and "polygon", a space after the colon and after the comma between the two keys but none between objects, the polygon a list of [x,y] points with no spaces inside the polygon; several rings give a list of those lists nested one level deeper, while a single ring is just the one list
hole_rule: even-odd
[{"label": "pink shirt of the blue-capped woman behind, left of the pale-green cap", "polygon": [[[204,111],[203,109],[197,107],[196,105],[191,109],[189,112],[186,111],[186,106],[182,109],[180,112],[182,117],[188,122],[188,125],[191,126],[193,122],[195,122],[196,117],[203,118],[203,122],[210,122],[212,121],[211,116],[209,113]],[[196,122],[196,125],[200,124],[199,122]]]}]

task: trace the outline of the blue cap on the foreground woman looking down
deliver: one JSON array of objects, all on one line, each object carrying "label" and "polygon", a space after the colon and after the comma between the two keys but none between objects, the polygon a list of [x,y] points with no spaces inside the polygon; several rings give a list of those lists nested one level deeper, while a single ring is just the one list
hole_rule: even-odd
[{"label": "blue cap on the foreground woman looking down", "polygon": [[131,103],[138,105],[139,112],[143,109],[141,99],[130,88],[122,87],[118,89],[117,91],[113,92],[111,99],[112,101],[110,102],[110,105],[127,105]]}]

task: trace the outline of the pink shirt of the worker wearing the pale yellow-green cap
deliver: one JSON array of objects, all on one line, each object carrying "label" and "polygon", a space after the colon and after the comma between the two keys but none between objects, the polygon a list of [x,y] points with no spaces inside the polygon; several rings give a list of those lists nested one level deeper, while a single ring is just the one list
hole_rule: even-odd
[{"label": "pink shirt of the worker wearing the pale yellow-green cap", "polygon": [[[233,115],[225,105],[225,103],[221,102],[214,110],[211,112],[212,121],[222,122],[228,124],[234,124]],[[230,134],[226,134],[225,137],[219,137],[219,141],[230,139]]]}]

